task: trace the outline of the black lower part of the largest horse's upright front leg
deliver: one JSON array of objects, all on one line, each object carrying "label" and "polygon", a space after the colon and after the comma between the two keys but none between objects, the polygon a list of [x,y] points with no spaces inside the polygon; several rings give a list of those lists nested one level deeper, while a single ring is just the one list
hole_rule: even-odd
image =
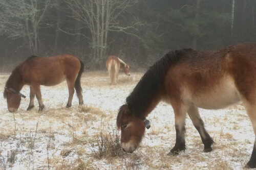
[{"label": "black lower part of the largest horse's upright front leg", "polygon": [[176,143],[174,148],[170,150],[167,155],[177,155],[180,151],[184,151],[185,147],[185,125],[182,128],[179,128],[177,125],[175,126],[176,129]]}]

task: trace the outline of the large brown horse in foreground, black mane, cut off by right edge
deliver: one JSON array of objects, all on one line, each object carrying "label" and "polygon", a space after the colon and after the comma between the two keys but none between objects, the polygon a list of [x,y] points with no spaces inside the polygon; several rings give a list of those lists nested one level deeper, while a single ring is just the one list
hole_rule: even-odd
[{"label": "large brown horse in foreground, black mane, cut off by right edge", "polygon": [[[214,143],[204,128],[198,108],[220,109],[242,101],[256,133],[256,43],[219,50],[172,51],[157,61],[126,98],[117,115],[121,146],[133,152],[148,126],[145,117],[160,101],[172,105],[176,143],[168,155],[185,150],[185,118],[188,113],[210,152]],[[247,167],[256,167],[256,141]]]}]

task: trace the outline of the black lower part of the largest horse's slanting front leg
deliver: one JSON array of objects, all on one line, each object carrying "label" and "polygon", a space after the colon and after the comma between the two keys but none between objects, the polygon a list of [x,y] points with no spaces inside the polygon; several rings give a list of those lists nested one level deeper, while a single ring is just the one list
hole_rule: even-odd
[{"label": "black lower part of the largest horse's slanting front leg", "polygon": [[204,143],[204,152],[212,151],[211,145],[214,143],[214,140],[212,140],[210,135],[205,130],[203,120],[200,119],[200,125],[195,127],[201,136],[202,142]]}]

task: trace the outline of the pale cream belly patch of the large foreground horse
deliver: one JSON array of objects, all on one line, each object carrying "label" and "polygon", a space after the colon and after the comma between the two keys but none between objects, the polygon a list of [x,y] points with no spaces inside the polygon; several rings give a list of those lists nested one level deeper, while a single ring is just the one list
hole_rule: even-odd
[{"label": "pale cream belly patch of the large foreground horse", "polygon": [[[190,93],[191,94],[191,93]],[[230,78],[204,92],[190,95],[190,103],[203,109],[221,109],[240,101],[239,92]]]}]

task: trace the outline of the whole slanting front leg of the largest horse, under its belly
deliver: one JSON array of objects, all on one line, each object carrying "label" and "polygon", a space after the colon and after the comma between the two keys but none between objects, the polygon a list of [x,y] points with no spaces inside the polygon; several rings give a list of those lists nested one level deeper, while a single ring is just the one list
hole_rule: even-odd
[{"label": "whole slanting front leg of the largest horse, under its belly", "polygon": [[187,111],[190,119],[193,122],[193,125],[198,130],[201,139],[204,143],[204,152],[210,152],[212,151],[211,145],[214,143],[214,140],[210,137],[210,135],[207,133],[207,131],[204,128],[204,122],[200,117],[198,108],[195,106],[190,106]]}]

